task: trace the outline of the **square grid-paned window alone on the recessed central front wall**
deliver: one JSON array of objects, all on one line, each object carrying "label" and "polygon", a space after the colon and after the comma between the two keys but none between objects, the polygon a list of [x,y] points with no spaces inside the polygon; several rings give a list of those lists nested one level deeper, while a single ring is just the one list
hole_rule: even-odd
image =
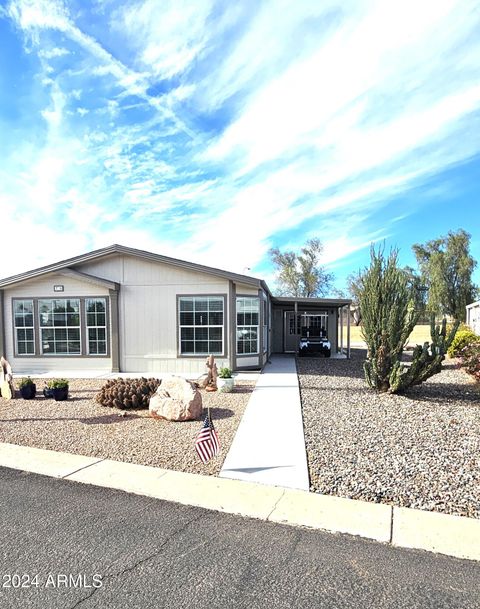
[{"label": "square grid-paned window alone on the recessed central front wall", "polygon": [[221,296],[179,298],[180,353],[222,355],[224,299]]}]

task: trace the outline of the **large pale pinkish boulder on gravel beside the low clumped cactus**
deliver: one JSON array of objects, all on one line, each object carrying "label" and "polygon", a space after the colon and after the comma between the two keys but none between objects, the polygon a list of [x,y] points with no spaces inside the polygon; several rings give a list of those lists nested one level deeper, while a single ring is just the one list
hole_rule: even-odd
[{"label": "large pale pinkish boulder on gravel beside the low clumped cactus", "polygon": [[156,419],[190,421],[202,414],[202,396],[193,383],[172,376],[162,381],[150,398],[148,408]]}]

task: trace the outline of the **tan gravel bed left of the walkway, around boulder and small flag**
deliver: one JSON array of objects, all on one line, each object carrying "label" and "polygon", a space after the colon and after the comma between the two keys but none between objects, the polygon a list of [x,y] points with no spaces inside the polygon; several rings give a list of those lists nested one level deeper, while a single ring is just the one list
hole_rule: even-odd
[{"label": "tan gravel bed left of the walkway, around boulder and small flag", "polygon": [[93,399],[103,380],[70,380],[70,397],[65,402],[40,397],[44,381],[35,382],[34,400],[0,398],[0,442],[207,475],[219,473],[254,388],[253,382],[236,381],[232,393],[201,390],[204,409],[210,405],[222,449],[218,457],[203,465],[194,448],[200,420],[158,421],[148,410],[129,410],[121,417],[120,411]]}]

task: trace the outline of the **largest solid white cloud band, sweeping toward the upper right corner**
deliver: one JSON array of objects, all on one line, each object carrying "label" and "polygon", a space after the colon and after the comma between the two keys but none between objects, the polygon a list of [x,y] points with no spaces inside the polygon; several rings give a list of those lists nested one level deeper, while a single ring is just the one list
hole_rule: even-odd
[{"label": "largest solid white cloud band, sweeping toward the upper right corner", "polygon": [[[463,11],[449,1],[417,4],[363,5],[369,10],[360,18],[352,15],[314,53],[290,63],[260,86],[237,120],[207,149],[206,158],[219,160],[240,152],[243,169],[249,171],[312,145],[320,150],[333,146],[334,152],[341,147],[342,153],[361,148],[362,156],[372,149],[381,154],[382,145],[401,152],[411,149],[413,138],[421,142],[422,131],[428,139],[474,109],[478,105],[475,81],[465,78],[459,92],[458,82],[444,80],[446,51],[455,53],[455,45],[475,29],[471,7],[468,2]],[[452,15],[454,8],[463,15]],[[426,61],[422,58],[419,65],[418,57],[425,52]],[[471,52],[480,56],[478,47]],[[402,108],[400,98],[405,92],[399,84],[408,85],[414,78],[416,90]],[[392,104],[382,107],[387,92],[398,96],[395,104],[400,107],[393,115]],[[448,103],[447,96],[454,103]],[[370,145],[372,134],[364,125],[370,113],[379,123],[379,132],[391,129],[394,137],[386,135],[383,142],[377,138]],[[335,129],[329,127],[332,122]],[[339,135],[343,141],[339,142]]]}]

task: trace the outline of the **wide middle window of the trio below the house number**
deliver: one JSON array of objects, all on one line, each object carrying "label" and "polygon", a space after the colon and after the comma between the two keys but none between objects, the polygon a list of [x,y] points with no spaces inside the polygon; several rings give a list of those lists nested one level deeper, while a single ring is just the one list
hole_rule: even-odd
[{"label": "wide middle window of the trio below the house number", "polygon": [[38,301],[40,351],[43,355],[80,355],[80,299]]}]

